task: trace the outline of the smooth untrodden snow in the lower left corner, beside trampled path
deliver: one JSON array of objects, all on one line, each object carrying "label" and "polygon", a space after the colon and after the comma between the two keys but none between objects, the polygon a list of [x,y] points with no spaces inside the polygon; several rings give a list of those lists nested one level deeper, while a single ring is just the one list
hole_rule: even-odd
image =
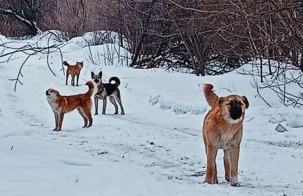
[{"label": "smooth untrodden snow in the lower left corner, beside trampled path", "polygon": [[143,167],[45,144],[45,138],[24,132],[24,125],[9,118],[0,117],[0,124],[1,195],[167,194]]}]

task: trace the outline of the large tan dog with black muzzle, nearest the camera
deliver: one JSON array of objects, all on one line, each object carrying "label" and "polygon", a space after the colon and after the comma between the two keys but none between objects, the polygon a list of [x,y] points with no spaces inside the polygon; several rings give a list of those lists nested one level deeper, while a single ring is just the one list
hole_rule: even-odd
[{"label": "large tan dog with black muzzle, nearest the camera", "polygon": [[207,154],[205,182],[219,183],[217,178],[216,155],[218,149],[224,150],[225,179],[231,186],[239,186],[237,179],[242,121],[249,103],[245,96],[229,95],[218,97],[213,85],[206,84],[204,93],[212,109],[205,117],[203,139]]}]

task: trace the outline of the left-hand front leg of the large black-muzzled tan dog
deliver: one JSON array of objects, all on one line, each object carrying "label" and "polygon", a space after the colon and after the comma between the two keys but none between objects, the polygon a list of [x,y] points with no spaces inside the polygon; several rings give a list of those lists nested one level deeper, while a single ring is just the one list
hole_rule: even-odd
[{"label": "left-hand front leg of the large black-muzzled tan dog", "polygon": [[207,152],[207,169],[206,169],[206,178],[204,182],[207,182],[209,184],[214,183],[214,177],[215,177],[215,160],[218,149],[216,149],[213,146],[207,146],[206,147]]}]

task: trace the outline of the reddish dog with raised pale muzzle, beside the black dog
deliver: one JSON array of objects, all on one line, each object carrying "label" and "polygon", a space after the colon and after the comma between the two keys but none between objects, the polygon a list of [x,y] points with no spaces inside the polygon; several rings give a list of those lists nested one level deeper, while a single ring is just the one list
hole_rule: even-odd
[{"label": "reddish dog with raised pale muzzle, beside the black dog", "polygon": [[[91,117],[91,95],[93,94],[96,86],[93,82],[88,81],[85,85],[88,85],[88,91],[84,94],[79,95],[70,95],[70,96],[62,96],[59,94],[58,91],[54,89],[48,89],[46,91],[46,99],[51,105],[54,113],[55,113],[55,120],[56,120],[56,127],[53,130],[61,130],[63,116],[65,113],[68,113],[77,108],[80,115],[84,119],[84,126],[83,127],[90,127],[92,124],[92,117]],[[87,121],[88,126],[87,126]]]}]

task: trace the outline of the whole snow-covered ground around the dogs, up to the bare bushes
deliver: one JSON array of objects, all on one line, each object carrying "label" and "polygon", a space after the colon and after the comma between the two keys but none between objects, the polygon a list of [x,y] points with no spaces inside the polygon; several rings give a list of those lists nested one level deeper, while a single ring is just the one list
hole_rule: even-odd
[{"label": "whole snow-covered ground around the dogs, up to the bare bushes", "polygon": [[[86,41],[74,38],[62,47],[69,63],[84,60],[79,87],[70,86],[70,80],[65,86],[57,51],[49,56],[56,76],[47,67],[46,54],[32,56],[23,67],[24,85],[17,84],[14,92],[15,81],[9,79],[16,78],[27,55],[19,53],[8,62],[9,56],[0,58],[1,195],[303,194],[300,108],[283,107],[272,92],[265,92],[274,106],[269,108],[250,87],[251,79],[238,74],[241,70],[195,77],[160,69],[128,69],[125,58],[118,59],[130,55],[126,50],[117,52],[115,43],[89,47],[85,36]],[[47,36],[41,35],[8,45],[21,47],[38,39],[47,45]],[[9,41],[0,35],[0,43]],[[48,44],[53,43],[59,42]],[[116,52],[109,55],[109,51]],[[113,66],[100,66],[110,63]],[[126,114],[114,115],[108,101],[107,114],[93,116],[93,126],[81,128],[82,117],[73,111],[65,115],[63,131],[53,132],[55,119],[45,90],[54,88],[62,95],[86,92],[90,72],[100,70],[104,82],[112,76],[120,78]],[[201,83],[213,84],[219,96],[239,94],[249,100],[239,158],[241,187],[225,182],[221,151],[217,155],[220,183],[203,183],[206,154],[201,127],[210,107],[198,86]],[[276,132],[278,123],[288,132]]]}]

